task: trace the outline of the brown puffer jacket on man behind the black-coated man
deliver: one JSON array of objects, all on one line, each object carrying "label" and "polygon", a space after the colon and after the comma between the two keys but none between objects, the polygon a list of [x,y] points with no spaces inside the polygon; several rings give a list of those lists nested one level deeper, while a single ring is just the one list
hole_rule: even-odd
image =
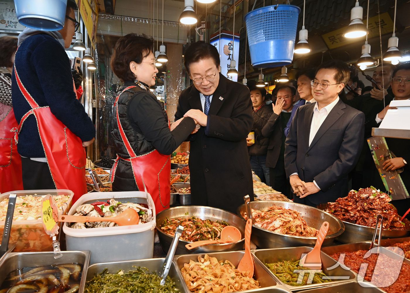
[{"label": "brown puffer jacket on man behind the black-coated man", "polygon": [[266,156],[269,146],[269,137],[262,135],[262,128],[268,122],[268,119],[272,113],[272,105],[264,105],[262,108],[257,110],[256,113],[255,111],[252,111],[255,143],[248,147],[248,153],[250,156]]}]

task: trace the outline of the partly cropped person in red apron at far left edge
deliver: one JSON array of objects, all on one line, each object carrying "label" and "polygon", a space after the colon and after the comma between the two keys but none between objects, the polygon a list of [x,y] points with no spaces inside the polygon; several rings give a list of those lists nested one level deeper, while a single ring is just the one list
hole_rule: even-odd
[{"label": "partly cropped person in red apron at far left edge", "polygon": [[23,189],[21,157],[11,132],[18,126],[11,104],[11,71],[16,50],[16,37],[0,38],[0,193]]}]

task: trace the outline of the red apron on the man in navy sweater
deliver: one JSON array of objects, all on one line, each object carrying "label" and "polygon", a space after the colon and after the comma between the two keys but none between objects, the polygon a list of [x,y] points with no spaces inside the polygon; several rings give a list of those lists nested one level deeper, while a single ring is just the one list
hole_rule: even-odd
[{"label": "red apron on the man in navy sweater", "polygon": [[[87,193],[85,183],[86,153],[82,141],[51,113],[50,107],[39,107],[21,83],[16,66],[14,66],[14,73],[21,93],[32,107],[21,118],[16,135],[20,133],[25,119],[33,114],[37,120],[41,144],[55,187],[73,191],[74,203],[81,195]],[[18,143],[17,136],[16,143]]]}]

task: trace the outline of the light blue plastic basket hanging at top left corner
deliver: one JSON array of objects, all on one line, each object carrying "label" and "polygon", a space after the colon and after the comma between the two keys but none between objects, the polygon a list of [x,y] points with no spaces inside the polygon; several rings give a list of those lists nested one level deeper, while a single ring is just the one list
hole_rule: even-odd
[{"label": "light blue plastic basket hanging at top left corner", "polygon": [[14,0],[18,22],[35,30],[61,30],[67,0]]}]

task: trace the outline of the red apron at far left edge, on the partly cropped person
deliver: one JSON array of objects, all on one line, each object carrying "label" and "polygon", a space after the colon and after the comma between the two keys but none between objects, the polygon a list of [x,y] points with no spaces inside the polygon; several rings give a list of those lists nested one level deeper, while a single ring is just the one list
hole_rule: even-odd
[{"label": "red apron at far left edge, on the partly cropped person", "polygon": [[0,193],[23,190],[21,157],[11,129],[18,127],[13,108],[0,122]]}]

